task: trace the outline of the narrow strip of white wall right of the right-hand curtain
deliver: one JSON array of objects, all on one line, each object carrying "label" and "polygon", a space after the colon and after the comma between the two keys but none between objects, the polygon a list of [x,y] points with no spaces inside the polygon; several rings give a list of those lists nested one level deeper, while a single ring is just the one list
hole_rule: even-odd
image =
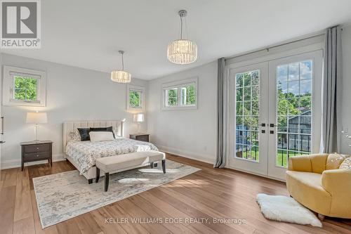
[{"label": "narrow strip of white wall right of the right-hand curtain", "polygon": [[[343,110],[342,124],[351,133],[351,26],[344,27],[342,32],[343,50]],[[341,152],[351,155],[351,139],[342,138]]]}]

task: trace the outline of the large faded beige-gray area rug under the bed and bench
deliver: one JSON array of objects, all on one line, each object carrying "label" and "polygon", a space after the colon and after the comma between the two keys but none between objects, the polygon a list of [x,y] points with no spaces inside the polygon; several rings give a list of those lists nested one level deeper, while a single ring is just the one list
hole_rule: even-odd
[{"label": "large faded beige-gray area rug under the bed and bench", "polygon": [[104,192],[104,177],[98,183],[88,184],[77,170],[33,178],[41,226],[46,228],[72,219],[199,170],[167,160],[166,174],[158,165],[153,169],[142,167],[110,175],[107,192]]}]

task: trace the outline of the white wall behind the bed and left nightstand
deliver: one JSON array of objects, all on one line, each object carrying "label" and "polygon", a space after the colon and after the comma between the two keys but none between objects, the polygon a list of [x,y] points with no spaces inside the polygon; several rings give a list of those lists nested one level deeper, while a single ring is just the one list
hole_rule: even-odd
[{"label": "white wall behind the bed and left nightstand", "polygon": [[[34,140],[34,125],[25,123],[28,111],[47,112],[48,124],[40,125],[39,140],[53,141],[53,160],[62,159],[62,122],[126,118],[125,136],[137,130],[133,114],[126,112],[126,84],[112,82],[110,74],[8,54],[1,54],[1,65],[44,70],[47,77],[45,108],[1,107],[6,141],[1,145],[3,169],[20,167],[20,142]],[[146,81],[133,78],[132,84],[147,89]],[[143,123],[142,129],[146,126]]]}]

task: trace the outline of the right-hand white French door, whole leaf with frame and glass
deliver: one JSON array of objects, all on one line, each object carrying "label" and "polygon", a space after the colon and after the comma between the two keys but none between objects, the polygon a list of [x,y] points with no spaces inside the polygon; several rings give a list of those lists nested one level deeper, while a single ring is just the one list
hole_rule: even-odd
[{"label": "right-hand white French door, whole leaf with frame and glass", "polygon": [[268,176],[284,179],[289,157],[319,150],[322,51],[272,60],[269,66]]}]

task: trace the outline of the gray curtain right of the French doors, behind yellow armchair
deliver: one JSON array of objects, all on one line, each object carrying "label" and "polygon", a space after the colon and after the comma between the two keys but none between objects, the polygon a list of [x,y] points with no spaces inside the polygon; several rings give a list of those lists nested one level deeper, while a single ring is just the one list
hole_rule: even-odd
[{"label": "gray curtain right of the French doors, behind yellow armchair", "polygon": [[340,150],[341,112],[341,29],[340,26],[326,30],[324,47],[322,98],[321,152]]}]

